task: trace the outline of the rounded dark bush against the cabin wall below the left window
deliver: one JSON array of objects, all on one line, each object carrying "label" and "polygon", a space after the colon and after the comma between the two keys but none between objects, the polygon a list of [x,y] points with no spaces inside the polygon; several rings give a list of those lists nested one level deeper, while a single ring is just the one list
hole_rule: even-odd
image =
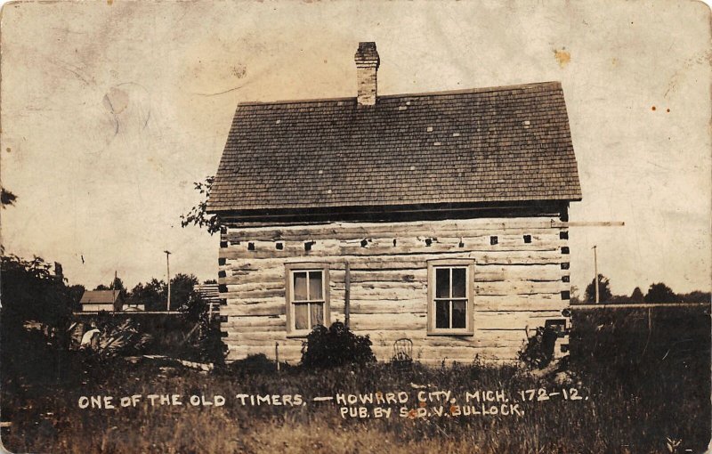
[{"label": "rounded dark bush against the cabin wall below the left window", "polygon": [[347,364],[364,365],[376,361],[368,336],[356,336],[344,323],[330,328],[315,327],[302,345],[302,365],[307,368],[334,368]]}]

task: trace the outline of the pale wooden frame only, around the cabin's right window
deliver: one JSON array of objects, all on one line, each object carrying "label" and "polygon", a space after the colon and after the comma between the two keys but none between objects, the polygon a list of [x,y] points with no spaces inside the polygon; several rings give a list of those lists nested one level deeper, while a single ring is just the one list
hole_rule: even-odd
[{"label": "pale wooden frame only, around the cabin's right window", "polygon": [[[473,336],[474,334],[474,259],[435,259],[427,261],[428,267],[428,307],[427,307],[427,335],[428,336]],[[435,327],[435,286],[436,270],[440,268],[465,269],[465,328],[436,328]],[[442,299],[442,298],[441,298]],[[454,298],[462,299],[462,298]],[[450,315],[451,317],[452,315]]]}]

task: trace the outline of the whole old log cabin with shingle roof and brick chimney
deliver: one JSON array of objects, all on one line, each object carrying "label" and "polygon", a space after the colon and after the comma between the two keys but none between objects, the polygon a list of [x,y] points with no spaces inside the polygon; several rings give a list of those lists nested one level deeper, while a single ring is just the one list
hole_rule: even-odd
[{"label": "whole old log cabin with shingle roof and brick chimney", "polygon": [[581,199],[558,82],[242,102],[208,200],[220,216],[229,360],[298,361],[316,324],[396,339],[417,361],[511,361],[569,305]]}]

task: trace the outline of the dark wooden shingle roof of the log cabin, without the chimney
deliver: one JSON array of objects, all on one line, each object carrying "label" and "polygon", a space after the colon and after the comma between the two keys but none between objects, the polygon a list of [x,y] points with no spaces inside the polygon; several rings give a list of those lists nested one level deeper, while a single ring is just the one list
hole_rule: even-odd
[{"label": "dark wooden shingle roof of the log cabin, without the chimney", "polygon": [[579,200],[561,84],[241,103],[213,213]]}]

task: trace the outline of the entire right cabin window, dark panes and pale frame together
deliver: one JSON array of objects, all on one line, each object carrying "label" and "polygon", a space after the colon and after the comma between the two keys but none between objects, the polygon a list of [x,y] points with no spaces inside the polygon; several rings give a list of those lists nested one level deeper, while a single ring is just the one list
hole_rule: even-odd
[{"label": "entire right cabin window, dark panes and pale frame together", "polygon": [[428,334],[473,334],[472,260],[428,263]]}]

